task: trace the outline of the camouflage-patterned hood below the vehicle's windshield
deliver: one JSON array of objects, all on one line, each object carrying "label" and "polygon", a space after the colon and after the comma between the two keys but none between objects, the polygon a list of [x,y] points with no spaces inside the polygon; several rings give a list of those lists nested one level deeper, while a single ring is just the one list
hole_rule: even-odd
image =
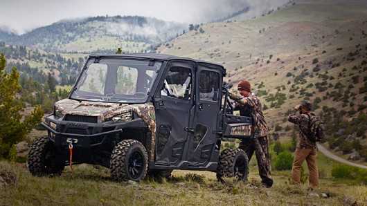
[{"label": "camouflage-patterned hood below the vehicle's windshield", "polygon": [[126,113],[136,111],[139,113],[142,109],[152,109],[151,104],[118,104],[107,102],[88,102],[64,99],[55,103],[55,109],[62,115],[82,115],[97,117],[98,122]]}]

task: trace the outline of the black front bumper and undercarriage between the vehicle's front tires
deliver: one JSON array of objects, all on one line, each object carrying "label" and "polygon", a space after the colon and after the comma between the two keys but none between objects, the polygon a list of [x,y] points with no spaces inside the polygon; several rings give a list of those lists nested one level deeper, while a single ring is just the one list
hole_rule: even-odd
[{"label": "black front bumper and undercarriage between the vehicle's front tires", "polygon": [[[51,124],[52,122],[52,124]],[[130,122],[72,122],[46,117],[41,123],[48,131],[48,138],[55,146],[58,162],[69,164],[69,142],[73,144],[73,164],[87,163],[109,167],[109,158],[116,142],[129,129],[145,129],[147,126],[141,119]],[[53,125],[53,127],[50,127]]]}]

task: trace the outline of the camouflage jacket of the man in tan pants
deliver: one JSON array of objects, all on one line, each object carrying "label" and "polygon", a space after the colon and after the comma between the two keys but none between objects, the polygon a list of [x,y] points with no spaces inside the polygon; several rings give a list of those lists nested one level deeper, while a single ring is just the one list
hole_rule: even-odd
[{"label": "camouflage jacket of the man in tan pants", "polygon": [[297,148],[316,149],[316,143],[311,142],[307,138],[307,135],[310,133],[310,118],[316,118],[316,115],[314,113],[310,113],[310,116],[306,114],[297,114],[296,111],[294,111],[294,113],[288,116],[288,121],[298,125],[300,129]]}]

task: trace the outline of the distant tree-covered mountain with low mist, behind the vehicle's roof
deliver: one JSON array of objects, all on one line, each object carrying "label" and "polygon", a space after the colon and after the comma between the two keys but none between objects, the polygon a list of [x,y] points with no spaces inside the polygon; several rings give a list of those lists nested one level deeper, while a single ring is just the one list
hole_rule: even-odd
[{"label": "distant tree-covered mountain with low mist, behind the vehicle's roof", "polygon": [[143,52],[177,37],[186,27],[150,17],[89,17],[58,21],[19,36],[0,32],[0,41],[51,51],[91,52],[121,47],[125,52]]}]

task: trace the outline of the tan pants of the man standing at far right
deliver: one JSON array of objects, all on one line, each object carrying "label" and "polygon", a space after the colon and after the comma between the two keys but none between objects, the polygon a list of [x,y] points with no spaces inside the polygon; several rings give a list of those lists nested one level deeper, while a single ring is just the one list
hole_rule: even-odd
[{"label": "tan pants of the man standing at far right", "polygon": [[292,180],[294,183],[301,184],[301,167],[304,160],[307,162],[310,172],[310,186],[316,188],[319,186],[319,171],[316,165],[316,149],[296,149],[294,153]]}]

